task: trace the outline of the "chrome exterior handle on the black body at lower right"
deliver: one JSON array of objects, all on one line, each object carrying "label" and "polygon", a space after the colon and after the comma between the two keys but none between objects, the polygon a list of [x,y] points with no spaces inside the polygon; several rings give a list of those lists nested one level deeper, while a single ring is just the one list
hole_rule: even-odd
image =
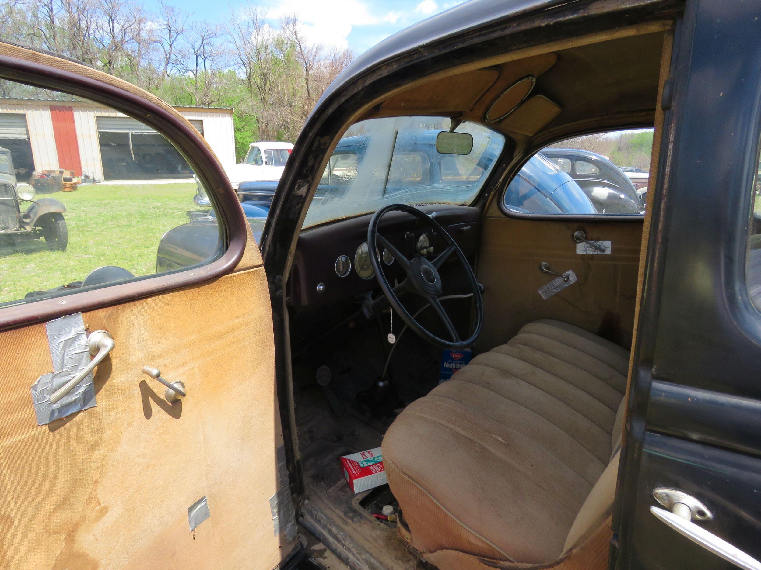
[{"label": "chrome exterior handle on the black body at lower right", "polygon": [[742,550],[732,546],[723,538],[719,538],[712,532],[693,523],[693,518],[700,521],[713,518],[711,512],[705,508],[702,502],[677,489],[655,489],[653,495],[661,505],[672,510],[667,511],[665,508],[651,506],[650,512],[673,530],[740,568],[761,570],[761,562],[743,553]]}]

